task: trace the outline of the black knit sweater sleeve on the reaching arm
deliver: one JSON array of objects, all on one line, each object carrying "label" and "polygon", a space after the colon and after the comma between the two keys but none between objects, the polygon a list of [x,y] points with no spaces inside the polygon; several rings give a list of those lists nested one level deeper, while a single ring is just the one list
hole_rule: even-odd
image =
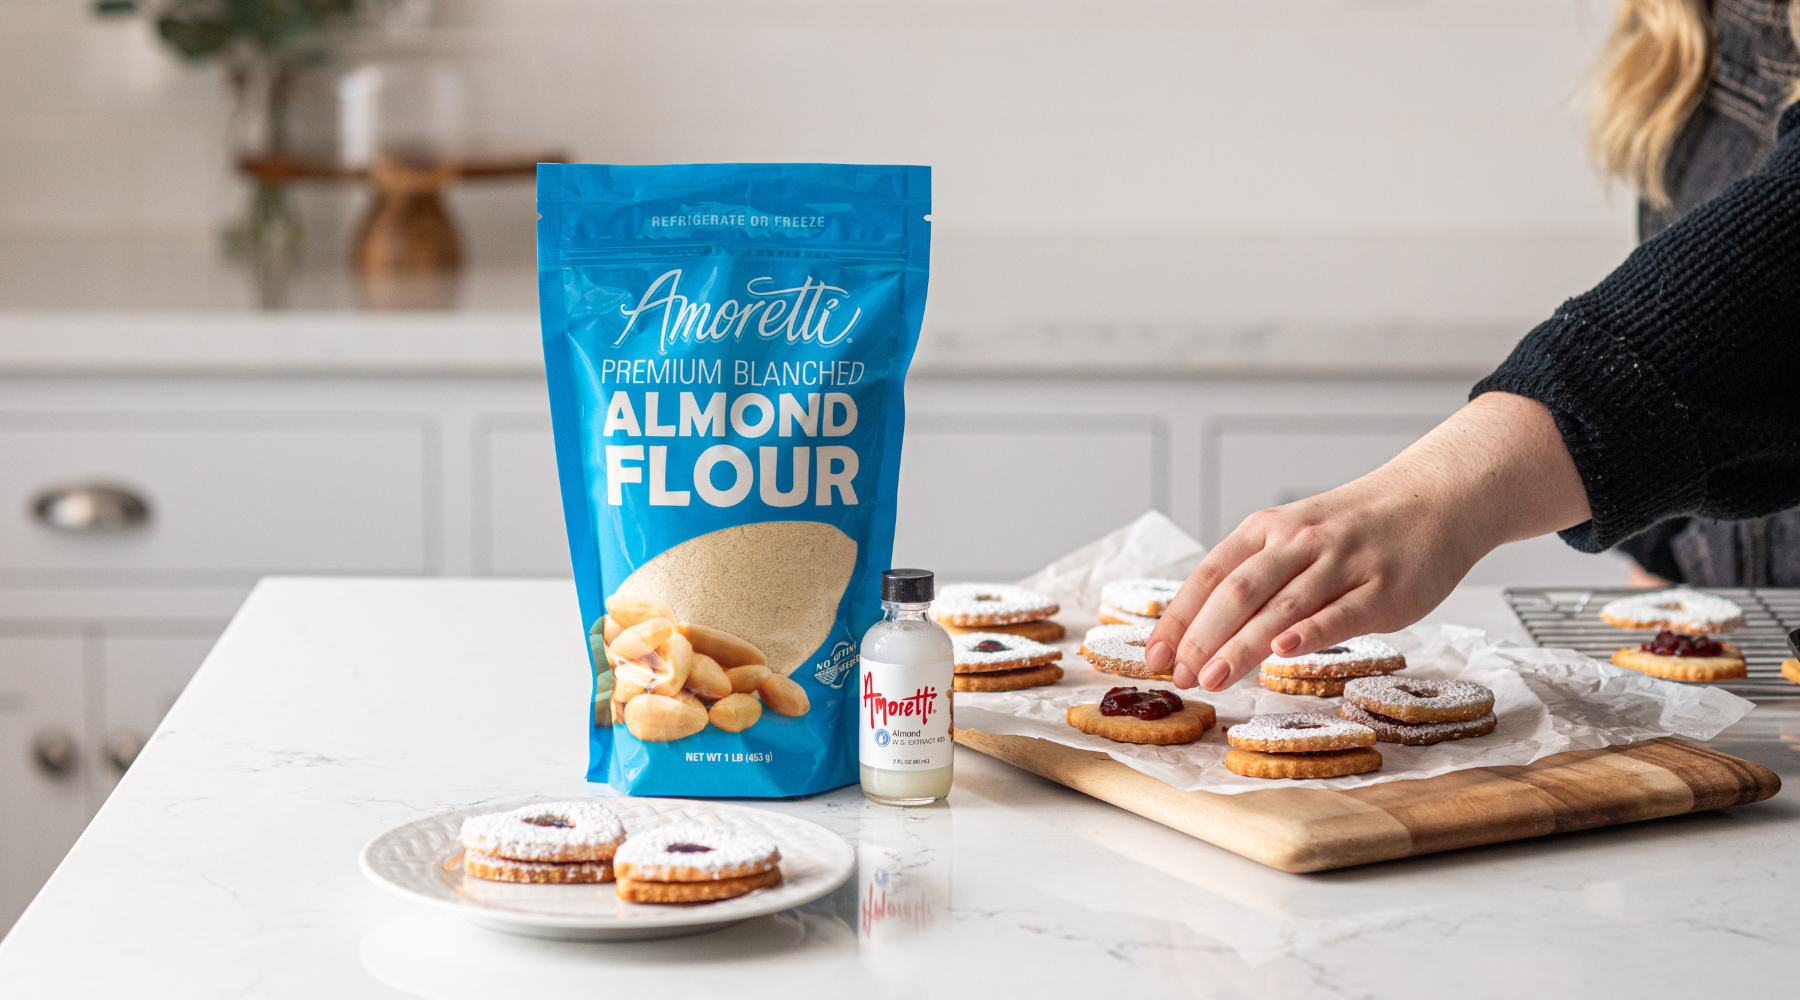
[{"label": "black knit sweater sleeve on the reaching arm", "polygon": [[1764,167],[1526,335],[1483,392],[1544,403],[1600,552],[1665,518],[1800,505],[1800,104]]}]

